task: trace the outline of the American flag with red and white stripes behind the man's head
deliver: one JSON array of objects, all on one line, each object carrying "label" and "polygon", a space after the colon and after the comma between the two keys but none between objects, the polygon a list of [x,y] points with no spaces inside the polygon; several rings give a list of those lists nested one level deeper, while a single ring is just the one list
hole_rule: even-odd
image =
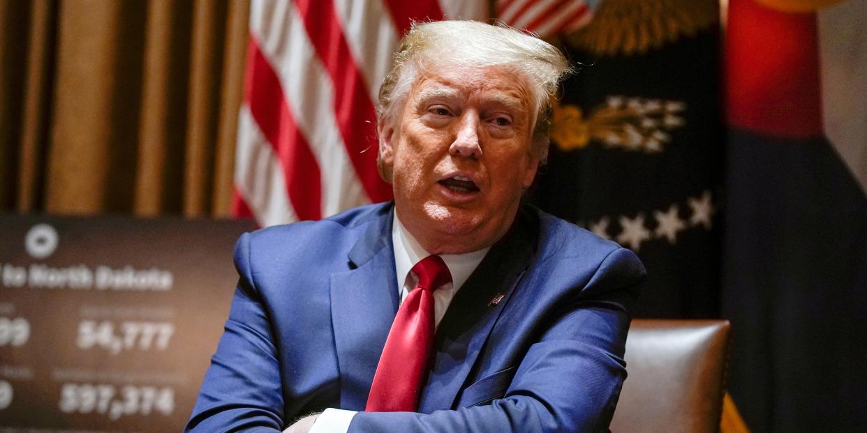
[{"label": "American flag with red and white stripes behind the man's head", "polygon": [[590,18],[580,0],[254,0],[232,213],[260,226],[391,198],[375,102],[413,21],[501,21],[543,36]]}]

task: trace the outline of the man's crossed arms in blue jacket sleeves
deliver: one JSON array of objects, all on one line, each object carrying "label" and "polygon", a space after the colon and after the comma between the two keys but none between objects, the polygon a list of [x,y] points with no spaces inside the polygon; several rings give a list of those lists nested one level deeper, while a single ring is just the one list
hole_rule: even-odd
[{"label": "man's crossed arms in blue jacket sleeves", "polygon": [[[606,262],[616,259],[612,255]],[[186,431],[273,433],[303,413],[290,408],[301,408],[305,402],[284,401],[270,315],[243,273],[241,280]],[[626,377],[623,341],[635,284],[636,279],[629,279],[622,287],[559,308],[519,361],[505,394],[429,414],[359,412],[349,432],[605,430]],[[309,428],[305,423],[292,427],[304,431]]]}]

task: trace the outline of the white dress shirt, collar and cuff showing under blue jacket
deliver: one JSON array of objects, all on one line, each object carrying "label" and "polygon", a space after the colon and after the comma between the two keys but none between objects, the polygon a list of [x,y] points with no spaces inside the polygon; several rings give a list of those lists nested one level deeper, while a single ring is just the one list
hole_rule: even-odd
[{"label": "white dress shirt, collar and cuff showing under blue jacket", "polygon": [[[402,303],[409,291],[415,288],[415,284],[418,282],[418,276],[412,272],[413,267],[430,253],[421,248],[419,242],[403,227],[396,212],[391,229],[391,241],[394,245],[394,270],[397,273],[397,281],[401,282],[399,290],[401,291]],[[442,261],[446,263],[448,271],[452,274],[452,282],[433,291],[433,323],[435,326],[440,326],[440,320],[446,314],[446,309],[452,302],[454,294],[473,274],[473,270],[479,266],[489,249],[491,247],[466,254],[440,255]],[[355,410],[326,409],[316,418],[316,423],[313,424],[310,433],[346,433],[355,413]]]}]

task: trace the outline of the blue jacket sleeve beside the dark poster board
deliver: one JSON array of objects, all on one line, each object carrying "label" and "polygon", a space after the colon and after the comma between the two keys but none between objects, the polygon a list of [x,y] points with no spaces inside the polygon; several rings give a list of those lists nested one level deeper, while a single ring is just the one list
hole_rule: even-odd
[{"label": "blue jacket sleeve beside the dark poster board", "polygon": [[284,407],[268,314],[250,268],[250,234],[235,246],[238,288],[199,398],[186,424],[188,432],[283,430]]}]

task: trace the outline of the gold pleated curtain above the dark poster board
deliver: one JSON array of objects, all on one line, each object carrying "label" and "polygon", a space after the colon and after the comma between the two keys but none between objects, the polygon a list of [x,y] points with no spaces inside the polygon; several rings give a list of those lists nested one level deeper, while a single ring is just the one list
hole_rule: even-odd
[{"label": "gold pleated curtain above the dark poster board", "polygon": [[0,210],[225,216],[249,0],[0,0]]}]

